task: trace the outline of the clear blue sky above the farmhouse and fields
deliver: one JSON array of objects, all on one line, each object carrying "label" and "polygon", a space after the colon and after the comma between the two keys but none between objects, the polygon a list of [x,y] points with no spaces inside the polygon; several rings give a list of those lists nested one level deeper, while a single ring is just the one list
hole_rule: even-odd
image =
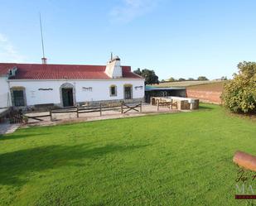
[{"label": "clear blue sky above the farmhouse and fields", "polygon": [[160,79],[231,77],[256,58],[254,0],[3,1],[0,62],[154,69]]}]

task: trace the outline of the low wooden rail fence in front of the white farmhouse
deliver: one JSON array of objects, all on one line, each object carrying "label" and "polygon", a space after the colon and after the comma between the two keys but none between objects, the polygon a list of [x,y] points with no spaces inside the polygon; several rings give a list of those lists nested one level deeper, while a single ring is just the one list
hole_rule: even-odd
[{"label": "low wooden rail fence in front of the white farmhouse", "polygon": [[[31,116],[29,113],[19,113],[16,115],[12,115],[9,117],[10,123],[27,123],[29,119],[37,120],[37,121],[44,121],[42,117],[50,117],[50,120],[53,121],[53,114],[60,114],[60,113],[75,113],[76,117],[80,117],[81,113],[99,113],[99,116],[106,111],[118,111],[120,113],[128,113],[130,111],[136,111],[138,113],[142,113],[142,102],[137,104],[128,104],[121,102],[118,106],[105,106],[99,104],[99,106],[88,106],[88,107],[70,107],[70,108],[59,108],[50,110],[48,114],[44,115],[37,115]],[[11,121],[12,120],[12,121]]]}]

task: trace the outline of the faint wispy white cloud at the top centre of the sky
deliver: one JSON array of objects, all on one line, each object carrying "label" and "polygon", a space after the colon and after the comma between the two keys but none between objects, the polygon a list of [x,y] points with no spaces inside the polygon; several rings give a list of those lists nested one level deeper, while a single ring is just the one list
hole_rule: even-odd
[{"label": "faint wispy white cloud at the top centre of the sky", "polygon": [[123,0],[110,12],[111,22],[131,22],[147,12],[151,12],[159,0]]}]

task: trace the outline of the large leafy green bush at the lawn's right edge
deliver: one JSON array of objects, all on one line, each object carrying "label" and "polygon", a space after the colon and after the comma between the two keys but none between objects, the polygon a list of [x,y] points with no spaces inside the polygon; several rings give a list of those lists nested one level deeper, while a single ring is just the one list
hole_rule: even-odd
[{"label": "large leafy green bush at the lawn's right edge", "polygon": [[238,69],[224,86],[222,102],[234,113],[256,113],[256,63],[244,61]]}]

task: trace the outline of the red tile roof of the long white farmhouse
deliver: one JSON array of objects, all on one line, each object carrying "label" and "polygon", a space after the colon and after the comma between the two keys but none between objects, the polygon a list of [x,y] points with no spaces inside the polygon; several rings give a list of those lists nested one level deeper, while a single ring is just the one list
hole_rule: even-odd
[{"label": "red tile roof of the long white farmhouse", "polygon": [[[104,73],[105,65],[41,65],[0,63],[0,75],[17,67],[17,72],[10,79],[111,79]],[[122,66],[123,78],[142,79],[133,74],[130,66]]]}]

